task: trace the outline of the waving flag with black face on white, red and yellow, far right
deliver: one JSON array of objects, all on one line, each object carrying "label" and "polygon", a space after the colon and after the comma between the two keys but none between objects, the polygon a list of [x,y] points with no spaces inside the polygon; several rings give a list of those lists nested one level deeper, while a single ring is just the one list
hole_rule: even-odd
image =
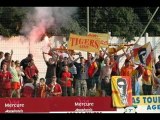
[{"label": "waving flag with black face on white, red and yellow, far right", "polygon": [[152,46],[150,42],[146,43],[145,45],[134,48],[134,62],[136,64],[142,64],[147,66],[148,69],[152,69]]}]

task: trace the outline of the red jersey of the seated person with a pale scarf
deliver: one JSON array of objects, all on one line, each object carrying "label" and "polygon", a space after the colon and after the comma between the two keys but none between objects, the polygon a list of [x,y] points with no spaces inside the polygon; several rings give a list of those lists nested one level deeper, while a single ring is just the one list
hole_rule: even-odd
[{"label": "red jersey of the seated person with a pale scarf", "polygon": [[[61,96],[62,94],[62,88],[60,86],[60,84],[56,83],[55,85],[50,84],[48,85],[48,87],[50,88],[50,96]],[[55,95],[54,93],[60,93],[58,95]]]}]

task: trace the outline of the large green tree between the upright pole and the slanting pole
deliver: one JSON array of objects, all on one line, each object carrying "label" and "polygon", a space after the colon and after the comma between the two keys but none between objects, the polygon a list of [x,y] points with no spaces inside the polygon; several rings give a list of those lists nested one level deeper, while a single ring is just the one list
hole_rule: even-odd
[{"label": "large green tree between the upright pole and the slanting pole", "polygon": [[143,30],[137,14],[131,7],[92,7],[90,8],[90,31],[111,32],[112,36],[133,40]]}]

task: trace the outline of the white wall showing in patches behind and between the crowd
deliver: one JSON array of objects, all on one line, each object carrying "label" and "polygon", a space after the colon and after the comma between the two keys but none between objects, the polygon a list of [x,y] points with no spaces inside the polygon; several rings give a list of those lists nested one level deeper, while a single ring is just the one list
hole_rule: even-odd
[{"label": "white wall showing in patches behind and between the crowd", "polygon": [[[137,40],[139,37],[135,37]],[[64,37],[60,36],[53,36],[50,38],[51,42],[53,43],[53,46],[57,45],[60,46],[62,40],[65,40]],[[60,41],[60,42],[59,42]],[[116,37],[111,37],[109,40],[110,43],[118,43],[118,39]],[[158,42],[160,42],[160,37],[148,37],[146,42],[151,42],[152,47],[155,47]],[[134,42],[132,42],[134,43]],[[142,37],[138,44],[143,45],[145,43],[145,37]],[[39,77],[45,77],[46,73],[46,65],[43,61],[42,57],[42,47],[44,46],[44,42],[39,42],[33,45],[33,55],[34,55],[34,61],[36,66],[39,69]],[[155,50],[156,59],[158,60],[158,55],[160,55],[160,45],[158,45],[157,49]],[[29,53],[29,42],[28,40],[23,36],[15,36],[11,38],[3,38],[0,37],[0,51],[10,52],[11,49],[13,49],[13,60],[19,60],[21,61],[24,59],[27,54]],[[78,50],[76,50],[78,52]],[[119,51],[118,54],[122,53],[122,51]],[[82,52],[85,58],[87,58],[86,52]],[[47,56],[48,58],[50,56]],[[120,59],[120,67],[123,65],[125,60],[125,57],[122,57]]]}]

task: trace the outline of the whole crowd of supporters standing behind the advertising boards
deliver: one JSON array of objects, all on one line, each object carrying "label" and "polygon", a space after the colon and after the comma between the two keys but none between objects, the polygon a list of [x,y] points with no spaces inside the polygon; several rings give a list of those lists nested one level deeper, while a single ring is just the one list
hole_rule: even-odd
[{"label": "whole crowd of supporters standing behind the advertising boards", "polygon": [[[112,76],[130,76],[133,95],[160,94],[160,56],[151,70],[135,65],[133,51],[126,51],[109,54],[107,48],[101,48],[99,54],[88,53],[85,59],[81,52],[71,54],[67,50],[68,57],[64,57],[51,48],[49,53],[42,53],[47,66],[44,78],[39,78],[32,54],[18,61],[12,60],[16,54],[13,50],[0,51],[0,97],[111,96]],[[119,68],[122,56],[126,59]]]}]

